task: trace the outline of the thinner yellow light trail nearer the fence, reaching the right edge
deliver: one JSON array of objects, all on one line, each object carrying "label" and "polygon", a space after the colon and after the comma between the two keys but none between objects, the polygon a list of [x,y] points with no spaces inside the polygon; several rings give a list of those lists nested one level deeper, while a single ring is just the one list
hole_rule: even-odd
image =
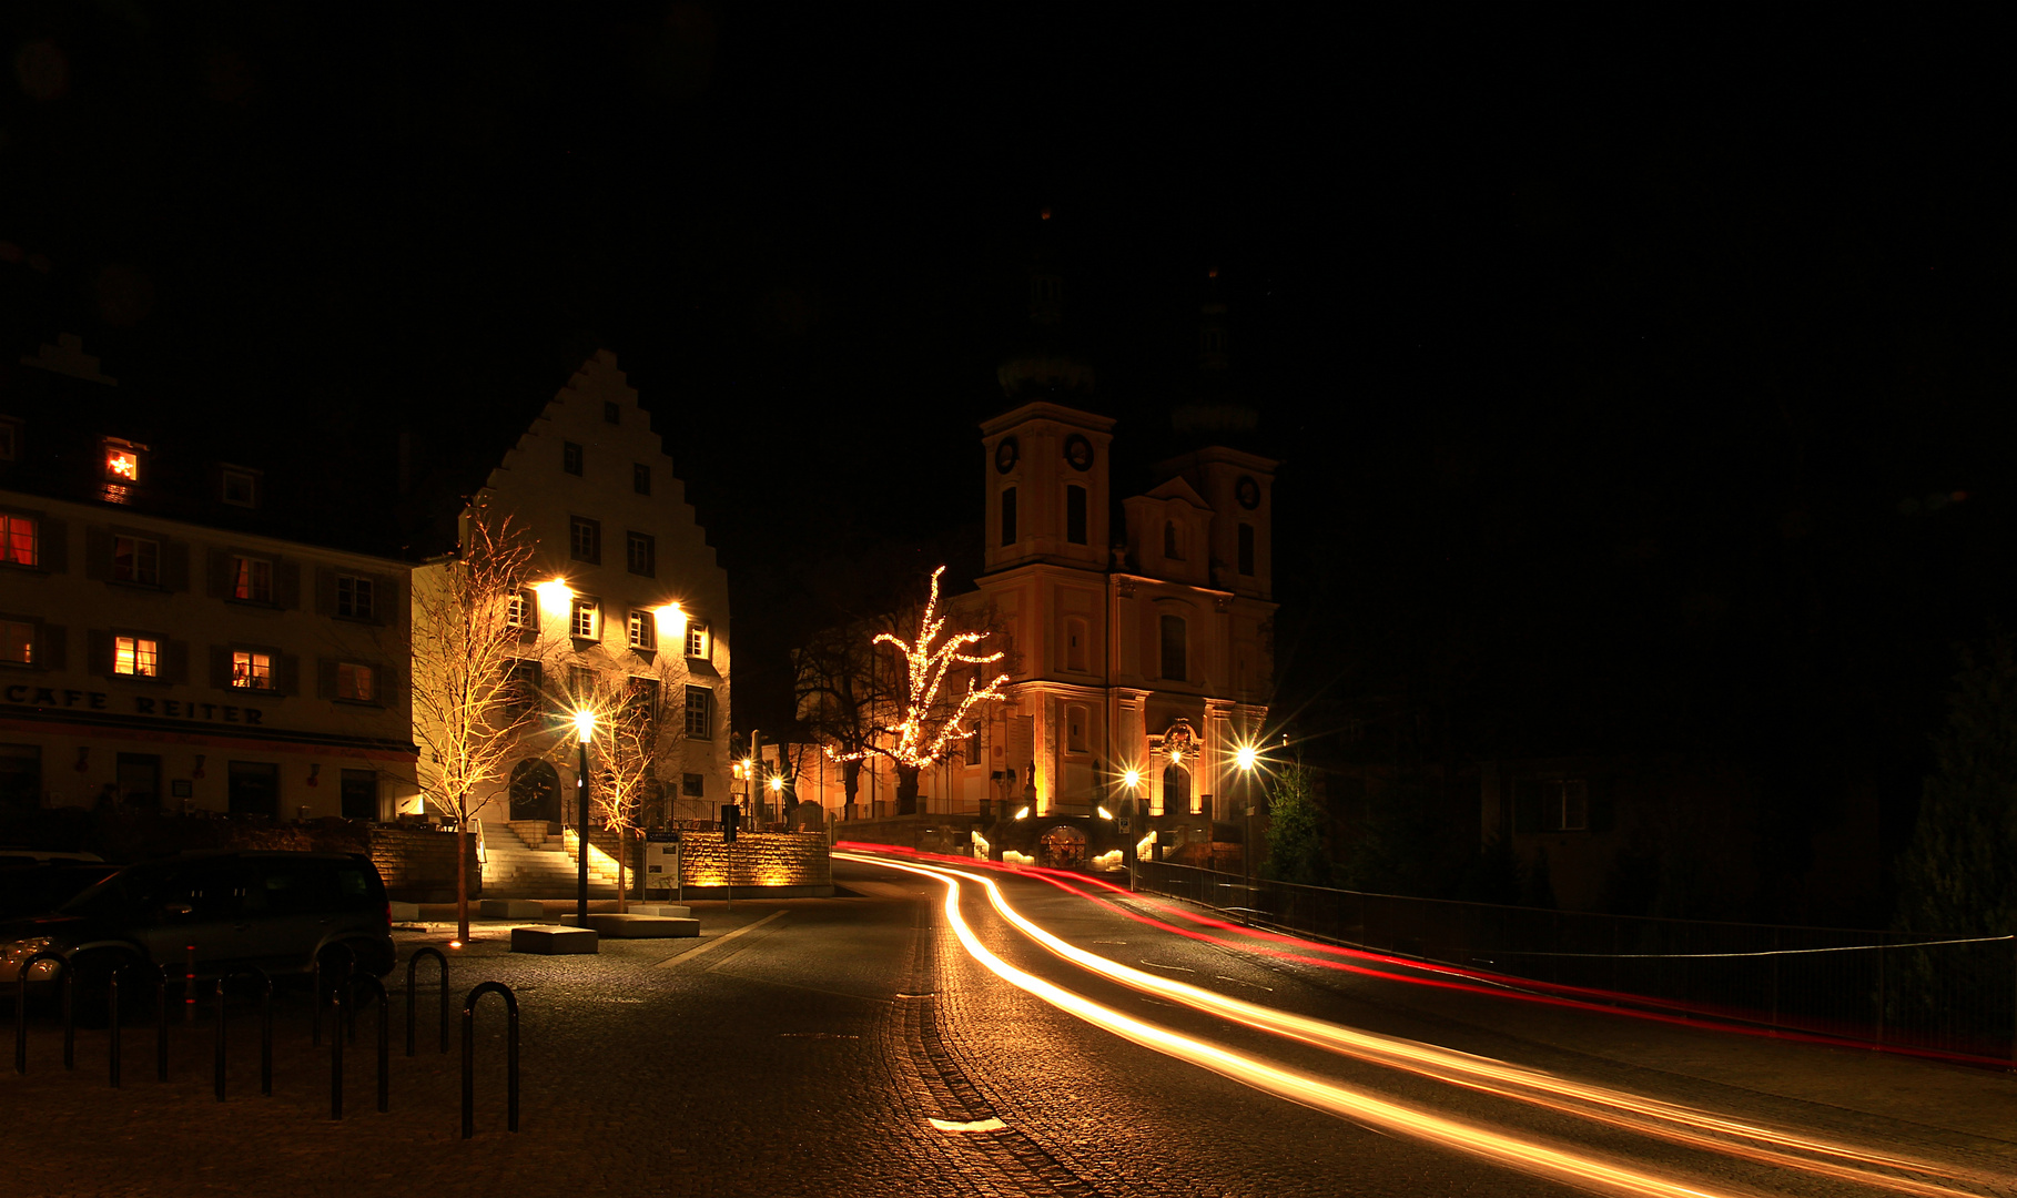
[{"label": "thinner yellow light trail nearer the fence, reaching the right edge", "polygon": [[[1914,1196],[1920,1196],[1920,1198],[1946,1198],[1946,1196],[1956,1196],[1961,1192],[1944,1188],[1944,1186],[1936,1186],[1936,1184],[1912,1180],[1912,1178],[1896,1178],[1896,1176],[1888,1176],[1888,1174],[1874,1174],[1874,1172],[1868,1172],[1868,1170],[1856,1168],[1856,1166],[1858,1164],[1860,1166],[1876,1166],[1876,1168],[1904,1170],[1904,1172],[1916,1172],[1916,1174],[1926,1174],[1926,1176],[1942,1176],[1942,1178],[1950,1178],[1950,1180],[1973,1180],[1973,1182],[1983,1182],[1983,1184],[2007,1184],[2007,1180],[2009,1180],[2009,1178],[1995,1178],[1995,1176],[1977,1174],[1977,1172],[1946,1170],[1942,1166],[1934,1166],[1934,1164],[1912,1160],[1912,1158],[1904,1158],[1904,1156],[1870,1152],[1870,1150],[1862,1150],[1862,1148],[1856,1148],[1856,1146],[1846,1146],[1846,1144],[1827,1142],[1827,1140],[1815,1140],[1815,1137],[1809,1137],[1809,1135],[1799,1135],[1799,1133],[1791,1133],[1791,1131],[1783,1131],[1783,1129],[1775,1129],[1775,1127],[1761,1127],[1761,1125],[1745,1123],[1745,1121],[1739,1121],[1739,1119],[1721,1117],[1721,1115],[1714,1115],[1714,1113],[1708,1113],[1708,1111],[1698,1111],[1698,1109],[1692,1109],[1692,1107],[1682,1107],[1682,1105],[1676,1105],[1676,1103],[1666,1103],[1666,1101],[1660,1101],[1660,1099],[1648,1099],[1648,1097],[1640,1097],[1640,1095],[1632,1095],[1632,1093],[1624,1093],[1624,1091],[1614,1091],[1614,1089],[1606,1089],[1606,1087],[1597,1087],[1597,1085],[1583,1085],[1583,1083],[1567,1081],[1567,1079],[1561,1079],[1561,1077],[1553,1077],[1549,1073],[1541,1073],[1541,1071],[1533,1071],[1533,1069],[1523,1069],[1523,1067],[1517,1067],[1517,1065],[1507,1065],[1503,1061],[1493,1061],[1489,1057],[1474,1057],[1470,1053],[1456,1053],[1456,1051],[1450,1051],[1450,1049],[1438,1049],[1438,1047],[1422,1045],[1422,1043],[1416,1043],[1416,1041],[1402,1041],[1402,1039],[1394,1039],[1394,1037],[1380,1037],[1380,1035],[1372,1035],[1372,1033],[1359,1033],[1359,1031],[1351,1031],[1351,1029],[1345,1029],[1345,1027],[1339,1027],[1339,1025],[1333,1025],[1333,1023],[1327,1023],[1327,1021],[1307,1019],[1307,1016],[1299,1016],[1299,1014],[1289,1014],[1289,1012],[1283,1012],[1283,1010],[1275,1010],[1275,1008],[1269,1008],[1269,1006],[1247,1002],[1242,998],[1234,998],[1234,996],[1228,996],[1228,994],[1218,994],[1214,990],[1192,986],[1188,982],[1178,982],[1178,980],[1156,976],[1156,974],[1144,974],[1142,970],[1117,964],[1113,960],[1107,960],[1103,956],[1097,956],[1097,954],[1085,952],[1085,950],[1081,950],[1081,948],[1077,948],[1073,944],[1067,944],[1065,940],[1059,940],[1057,936],[1053,936],[1045,928],[1033,924],[1029,918],[1025,918],[1013,906],[1008,906],[1006,897],[1000,893],[1000,887],[990,877],[980,877],[980,875],[974,875],[974,873],[966,873],[962,869],[910,867],[910,865],[902,865],[902,863],[896,863],[896,861],[885,861],[885,859],[879,859],[879,857],[855,857],[855,855],[849,855],[849,853],[837,853],[837,855],[839,857],[857,859],[857,861],[873,861],[873,863],[889,865],[889,867],[896,867],[896,869],[910,869],[914,873],[926,873],[926,875],[938,877],[938,879],[942,879],[942,881],[946,881],[948,885],[954,885],[954,887],[958,883],[952,879],[952,875],[966,877],[966,879],[970,879],[970,881],[974,881],[974,883],[978,883],[980,887],[986,889],[988,900],[994,906],[994,910],[1004,920],[1008,920],[1017,930],[1021,930],[1025,936],[1037,940],[1039,944],[1043,944],[1047,950],[1051,950],[1053,954],[1061,956],[1063,960],[1069,960],[1071,964],[1077,964],[1077,966],[1081,966],[1085,970],[1091,970],[1091,972],[1097,972],[1101,976],[1107,976],[1107,978],[1111,978],[1115,982],[1121,982],[1125,986],[1132,986],[1136,990],[1158,994],[1162,998],[1180,1002],[1184,1006],[1192,1006],[1196,1010],[1206,1010],[1210,1014],[1218,1014],[1222,1019],[1240,1023],[1244,1027],[1253,1027],[1253,1029],[1259,1029],[1259,1031],[1265,1031],[1265,1033],[1281,1035],[1285,1039],[1295,1039],[1295,1041],[1301,1041],[1301,1043],[1307,1043],[1307,1045],[1323,1047],[1323,1049],[1329,1049],[1329,1051],[1335,1051],[1335,1053],[1341,1053],[1341,1055],[1349,1055],[1353,1059],[1372,1061],[1372,1063],[1386,1065],[1386,1067],[1392,1067],[1392,1069],[1404,1069],[1408,1073],[1416,1073],[1416,1075],[1422,1075],[1422,1077],[1432,1077],[1436,1081],[1444,1081],[1444,1083],[1450,1083],[1450,1085],[1462,1085],[1466,1089],[1474,1089],[1474,1091],[1480,1091],[1480,1093],[1491,1093],[1495,1097],[1507,1097],[1507,1099],[1515,1099],[1515,1101],[1525,1101],[1525,1103],[1541,1105],[1541,1107],[1547,1107],[1547,1109],[1553,1109],[1553,1111],[1561,1111],[1561,1113],[1569,1113],[1569,1115],[1579,1115],[1579,1117],[1585,1117],[1585,1119],[1595,1119],[1595,1121],[1601,1121],[1601,1123],[1608,1123],[1608,1125],[1614,1125],[1614,1127],[1624,1127],[1624,1129],[1640,1131],[1640,1133],[1654,1135],[1654,1137],[1660,1137],[1660,1140],[1668,1140],[1668,1142],[1676,1142],[1676,1144],[1686,1144],[1690,1148],[1700,1148],[1700,1150],[1710,1150],[1710,1152],[1723,1152],[1723,1154],[1729,1154],[1729,1156],[1739,1156],[1739,1158],[1745,1158],[1745,1160],[1753,1160],[1757,1164],[1769,1164],[1769,1166],[1779,1166],[1779,1168],[1803,1170],[1803,1172],[1809,1172],[1809,1174],[1819,1174],[1819,1176],[1827,1176],[1827,1178],[1835,1178],[1835,1180],[1846,1180],[1846,1182],[1858,1182],[1858,1184],[1866,1184],[1866,1186],[1878,1186],[1878,1188],[1886,1188],[1886,1190],[1894,1190],[1894,1192],[1914,1194]],[[952,912],[952,908],[948,908],[948,912]],[[952,914],[954,914],[954,926],[956,928],[964,928],[964,922],[960,922],[956,918],[956,912],[952,912]],[[962,934],[962,944],[968,944],[970,952],[974,952],[974,948],[976,948],[976,944],[968,942],[968,934]],[[986,952],[986,950],[978,950],[978,952]],[[978,954],[976,954],[976,958],[978,958]],[[994,970],[994,972],[1000,974],[1000,968],[996,968],[996,964],[998,964],[996,958],[988,956],[986,960],[982,960],[982,964],[988,964],[990,970]],[[1013,968],[1013,966],[1002,966],[1002,968]],[[1006,976],[1006,974],[1002,974],[1002,976]],[[1008,980],[1017,982],[1017,978],[1008,978]],[[1017,984],[1021,986],[1021,982],[1017,982]],[[1043,982],[1043,984],[1049,986],[1049,982]],[[1029,988],[1029,986],[1025,986],[1025,988]],[[1041,996],[1047,996],[1047,994],[1041,994]],[[1097,1010],[1107,1010],[1107,1008],[1099,1006]],[[1075,1014],[1077,1014],[1077,1010],[1075,1010]],[[1113,1012],[1113,1014],[1117,1019],[1130,1019],[1130,1016],[1123,1016],[1119,1012]],[[1083,1016],[1083,1019],[1089,1019],[1089,1016]],[[1097,1019],[1089,1019],[1089,1021],[1091,1023],[1101,1023]],[[1105,1027],[1105,1025],[1101,1023],[1101,1027]],[[1117,1029],[1113,1029],[1113,1031],[1117,1031]],[[1121,1031],[1119,1035],[1128,1035],[1128,1033]],[[1176,1035],[1176,1033],[1168,1033],[1168,1035]],[[1130,1039],[1134,1039],[1134,1037],[1130,1037]],[[1178,1037],[1178,1039],[1182,1039],[1182,1037]],[[1194,1045],[1196,1041],[1190,1041],[1190,1043]],[[1156,1045],[1150,1045],[1150,1047],[1156,1047]],[[1172,1055],[1184,1057],[1184,1053],[1172,1053]],[[1190,1059],[1190,1057],[1184,1057],[1184,1059]],[[1247,1061],[1247,1059],[1242,1059],[1242,1061]],[[1224,1071],[1224,1069],[1220,1069],[1220,1071]],[[1259,1085],[1259,1083],[1255,1083],[1249,1077],[1240,1077],[1236,1073],[1234,1073],[1234,1077],[1238,1081],[1249,1083],[1249,1085],[1257,1085],[1257,1089],[1271,1089],[1273,1091],[1273,1087]],[[1309,1083],[1313,1079],[1301,1079],[1301,1081]],[[1323,1085],[1323,1083],[1317,1083],[1317,1085]],[[1279,1093],[1279,1091],[1275,1091],[1275,1093]],[[1351,1093],[1351,1091],[1347,1091],[1347,1093]],[[1309,1105],[1331,1109],[1325,1103],[1311,1101],[1311,1099],[1301,1097],[1301,1095],[1285,1095],[1285,1097],[1293,1097],[1295,1101],[1305,1101]],[[1374,1101],[1378,1101],[1378,1099],[1374,1099]],[[1591,1107],[1599,1107],[1599,1109],[1591,1109]],[[1363,1115],[1351,1115],[1351,1117],[1363,1117]],[[1406,1127],[1398,1127],[1398,1129],[1406,1131]],[[1714,1140],[1712,1135],[1731,1135],[1731,1137],[1747,1140],[1747,1142],[1753,1142],[1753,1144],[1733,1144],[1729,1140]],[[1771,1148],[1763,1148],[1763,1146],[1771,1146]],[[1823,1156],[1823,1158],[1833,1158],[1833,1160],[1809,1160],[1809,1158],[1789,1156],[1787,1152],[1779,1152],[1779,1150],[1809,1152],[1809,1154]],[[1835,1162],[1854,1162],[1854,1164],[1835,1164]],[[1521,1166],[1521,1168],[1529,1168],[1529,1166]],[[1670,1182],[1662,1182],[1662,1184],[1670,1184]],[[1672,1194],[1672,1192],[1694,1192],[1694,1190],[1682,1188],[1682,1190],[1660,1190],[1660,1192]]]}]

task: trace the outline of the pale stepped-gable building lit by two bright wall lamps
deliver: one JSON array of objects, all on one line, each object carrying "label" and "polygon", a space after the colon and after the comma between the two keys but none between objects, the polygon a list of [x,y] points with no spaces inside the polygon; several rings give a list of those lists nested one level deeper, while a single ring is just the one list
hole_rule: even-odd
[{"label": "pale stepped-gable building lit by two bright wall lamps", "polygon": [[[573,825],[567,706],[593,690],[615,688],[656,712],[662,793],[649,817],[714,819],[730,801],[728,575],[613,353],[581,363],[474,500],[537,545],[514,672],[549,716],[510,781],[486,797],[486,845],[516,837],[545,847],[561,823]],[[438,569],[420,567],[416,587]]]}]

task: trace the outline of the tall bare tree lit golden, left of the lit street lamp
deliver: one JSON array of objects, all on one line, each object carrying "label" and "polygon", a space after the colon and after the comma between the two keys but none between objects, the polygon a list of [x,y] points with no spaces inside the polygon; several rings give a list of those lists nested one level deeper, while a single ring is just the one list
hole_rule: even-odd
[{"label": "tall bare tree lit golden, left of the lit street lamp", "polygon": [[[514,666],[537,619],[524,611],[532,545],[480,502],[462,516],[460,551],[413,571],[413,740],[420,787],[456,819],[456,926],[470,938],[470,823],[535,728]],[[528,623],[530,621],[530,623]]]}]

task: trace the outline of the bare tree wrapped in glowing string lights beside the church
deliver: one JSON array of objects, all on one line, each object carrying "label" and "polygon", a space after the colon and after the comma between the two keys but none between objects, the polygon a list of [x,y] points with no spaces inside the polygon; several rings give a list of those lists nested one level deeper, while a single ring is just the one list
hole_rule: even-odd
[{"label": "bare tree wrapped in glowing string lights beside the church", "polygon": [[902,655],[898,662],[902,666],[902,682],[894,704],[889,704],[889,714],[896,720],[877,722],[873,736],[859,748],[827,746],[827,754],[839,762],[847,762],[849,758],[861,760],[871,752],[889,758],[898,778],[898,815],[914,815],[918,811],[918,770],[936,762],[948,744],[974,734],[966,720],[968,712],[976,704],[1006,698],[1000,692],[1008,682],[1006,674],[996,674],[986,684],[980,684],[976,674],[960,670],[966,676],[964,690],[960,690],[956,680],[948,678],[960,666],[990,666],[1000,662],[1002,653],[966,651],[988,637],[984,631],[946,631],[950,617],[938,611],[938,577],[944,573],[946,567],[932,571],[930,597],[914,621],[904,621],[916,629],[910,639],[885,631],[869,641],[871,647],[887,645]]}]

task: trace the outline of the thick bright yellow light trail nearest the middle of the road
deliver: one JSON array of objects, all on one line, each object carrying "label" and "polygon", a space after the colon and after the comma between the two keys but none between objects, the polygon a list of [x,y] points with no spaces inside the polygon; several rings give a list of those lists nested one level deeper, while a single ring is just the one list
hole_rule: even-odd
[{"label": "thick bright yellow light trail nearest the middle of the road", "polygon": [[1519,1140],[1503,1131],[1493,1131],[1491,1127],[1478,1127],[1444,1115],[1416,1111],[1396,1101],[1323,1081],[1319,1077],[1295,1073],[1291,1069],[1283,1069],[1281,1065],[1271,1065],[1244,1053],[1208,1045],[1162,1025],[1123,1014],[1111,1006],[1093,1002],[1075,990],[1067,990],[1055,982],[1023,972],[988,952],[988,948],[980,944],[980,938],[974,936],[974,930],[966,926],[966,918],[960,914],[960,877],[992,887],[988,879],[952,869],[906,865],[875,857],[859,857],[853,853],[835,853],[835,857],[904,869],[908,873],[920,873],[942,881],[946,885],[946,920],[952,924],[952,930],[960,938],[968,956],[1004,982],[1146,1049],[1156,1049],[1158,1053],[1176,1057],[1178,1061],[1202,1065],[1242,1085],[1251,1085],[1259,1091],[1273,1093],[1319,1111],[1355,1119],[1400,1135],[1410,1135],[1414,1140],[1456,1148],[1495,1164],[1567,1182],[1571,1186],[1644,1198],[1727,1198],[1733,1194],[1731,1190],[1704,1190],[1688,1186],[1672,1178],[1640,1172],[1593,1156]]}]

